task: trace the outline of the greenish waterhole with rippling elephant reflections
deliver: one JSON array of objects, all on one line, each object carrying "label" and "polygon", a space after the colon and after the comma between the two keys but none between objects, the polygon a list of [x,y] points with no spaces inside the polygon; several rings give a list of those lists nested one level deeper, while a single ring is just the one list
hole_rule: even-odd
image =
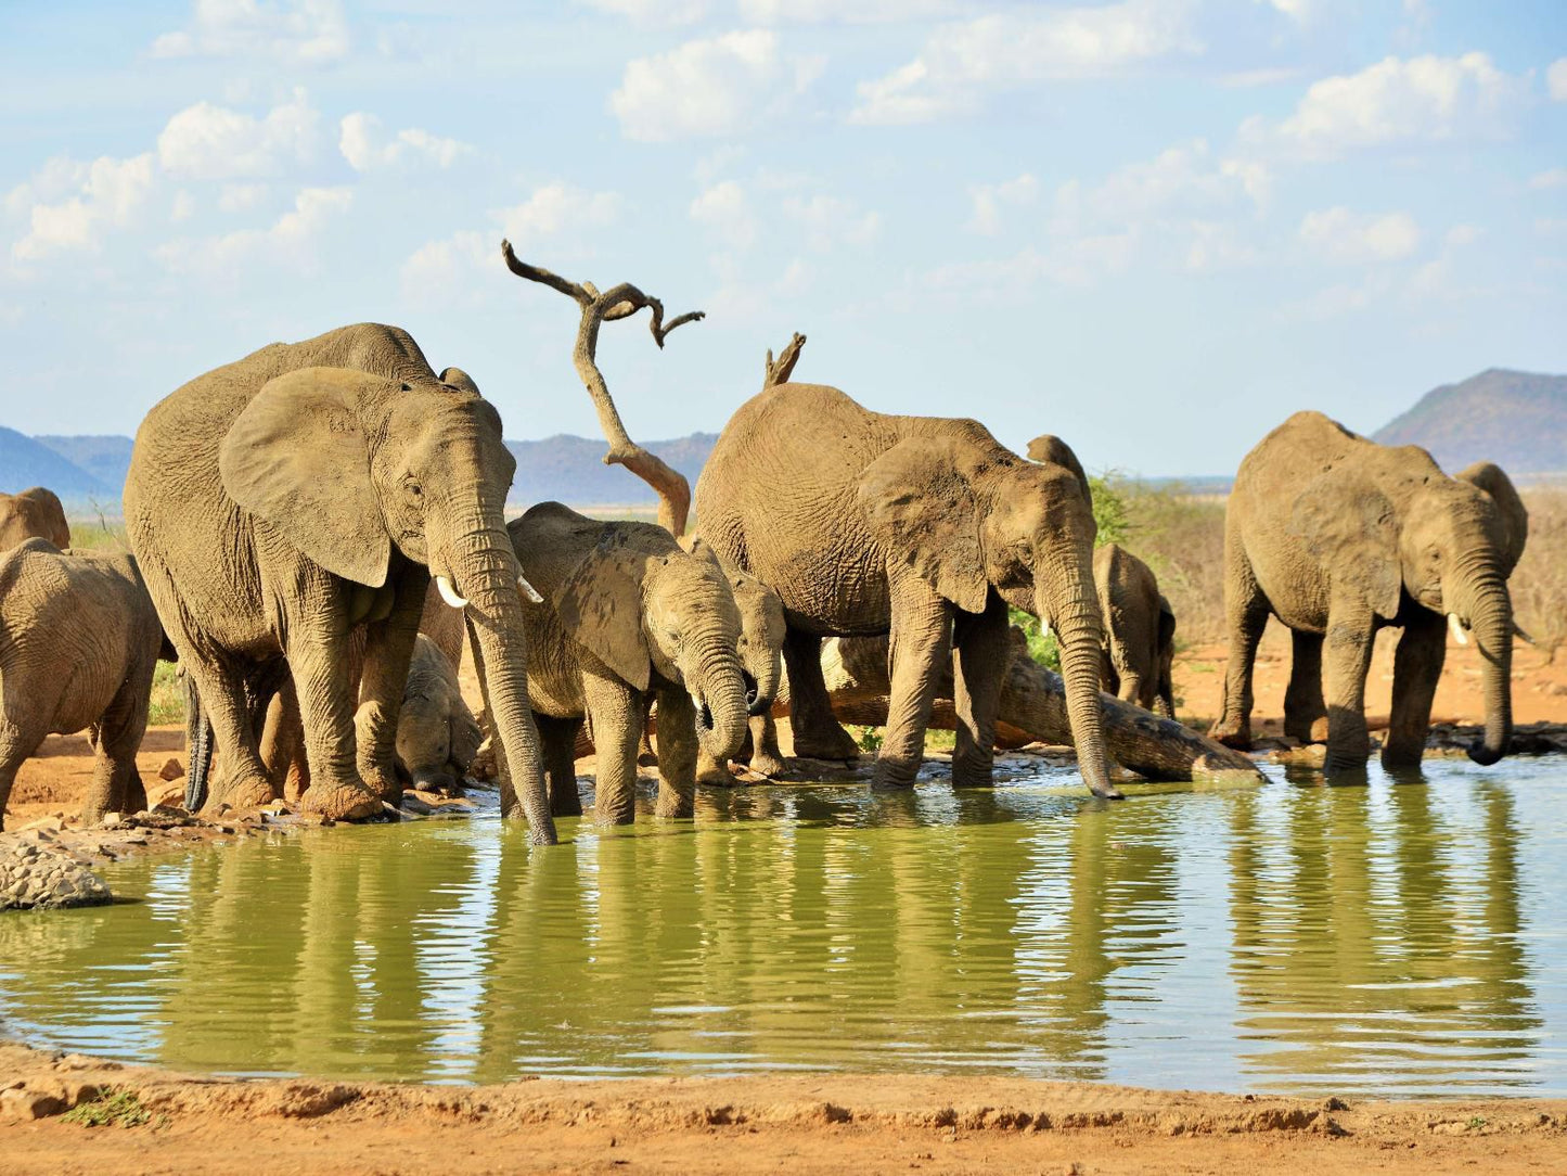
[{"label": "greenish waterhole with rippling elephant reflections", "polygon": [[0,917],[0,1032],[185,1069],[964,1071],[1567,1094],[1558,760],[1424,784],[1070,776],[705,792],[530,850],[494,817],[127,862]]}]

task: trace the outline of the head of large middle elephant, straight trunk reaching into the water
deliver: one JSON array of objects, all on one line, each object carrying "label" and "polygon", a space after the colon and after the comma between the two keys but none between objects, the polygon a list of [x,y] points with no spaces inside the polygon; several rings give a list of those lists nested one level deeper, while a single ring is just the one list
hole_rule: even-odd
[{"label": "head of large middle elephant, straight trunk reaching into the water", "polygon": [[1023,461],[975,423],[914,436],[870,464],[859,495],[881,543],[943,599],[979,613],[995,586],[1055,629],[1083,779],[1095,795],[1114,797],[1098,709],[1103,622],[1091,491],[1064,442],[1040,437],[1036,447],[1051,459]]}]

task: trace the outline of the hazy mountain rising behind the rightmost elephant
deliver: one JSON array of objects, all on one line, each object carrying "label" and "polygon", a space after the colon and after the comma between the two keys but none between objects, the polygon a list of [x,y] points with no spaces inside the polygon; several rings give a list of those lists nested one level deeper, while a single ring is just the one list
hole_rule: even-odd
[{"label": "hazy mountain rising behind the rightmost elephant", "polygon": [[1448,474],[1495,461],[1512,477],[1567,472],[1567,376],[1490,368],[1443,384],[1371,434],[1420,445]]}]

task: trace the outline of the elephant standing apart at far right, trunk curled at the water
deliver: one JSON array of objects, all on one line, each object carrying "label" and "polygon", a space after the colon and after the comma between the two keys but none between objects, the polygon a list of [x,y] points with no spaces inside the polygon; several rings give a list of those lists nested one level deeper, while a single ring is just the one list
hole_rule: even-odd
[{"label": "elephant standing apart at far right, trunk curled at the water", "polygon": [[1250,746],[1252,662],[1272,615],[1293,640],[1285,732],[1310,739],[1326,717],[1326,771],[1363,771],[1365,679],[1376,632],[1390,626],[1402,633],[1382,764],[1417,768],[1451,627],[1459,640],[1473,632],[1486,662],[1486,734],[1468,754],[1495,764],[1512,735],[1507,577],[1528,530],[1496,466],[1448,477],[1417,445],[1379,445],[1321,412],[1296,412],[1241,461],[1225,508],[1230,663],[1210,734]]}]

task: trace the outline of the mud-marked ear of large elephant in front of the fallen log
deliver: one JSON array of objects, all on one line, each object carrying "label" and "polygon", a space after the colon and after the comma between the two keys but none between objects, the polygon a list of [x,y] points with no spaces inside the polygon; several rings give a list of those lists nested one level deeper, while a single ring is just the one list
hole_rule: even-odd
[{"label": "mud-marked ear of large elephant in front of the fallen log", "polygon": [[964,612],[984,612],[990,583],[979,503],[950,441],[899,441],[860,475],[859,499],[871,532],[895,558]]}]

